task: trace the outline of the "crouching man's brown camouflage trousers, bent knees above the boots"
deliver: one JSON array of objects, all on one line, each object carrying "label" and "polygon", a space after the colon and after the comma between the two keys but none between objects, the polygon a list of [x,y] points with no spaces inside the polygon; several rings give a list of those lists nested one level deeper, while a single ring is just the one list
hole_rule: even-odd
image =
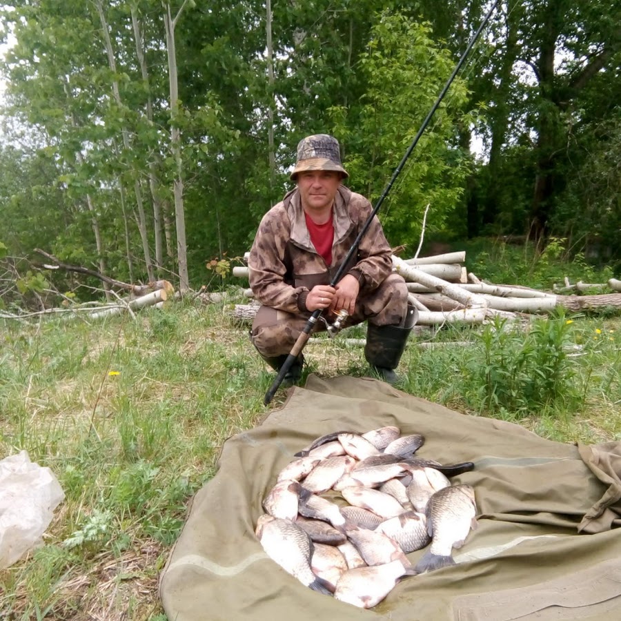
[{"label": "crouching man's brown camouflage trousers, bent knees above the boots", "polygon": [[[408,290],[404,279],[398,274],[391,274],[372,293],[356,300],[355,312],[348,317],[346,325],[354,326],[368,320],[376,326],[401,326],[406,317],[407,302]],[[288,354],[310,316],[261,306],[253,322],[250,339],[265,357]],[[324,330],[326,326],[319,320],[315,331]]]}]

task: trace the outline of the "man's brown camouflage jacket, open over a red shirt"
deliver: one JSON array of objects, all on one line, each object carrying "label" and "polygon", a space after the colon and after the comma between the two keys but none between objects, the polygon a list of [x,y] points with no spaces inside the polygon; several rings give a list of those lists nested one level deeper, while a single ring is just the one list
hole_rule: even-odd
[{"label": "man's brown camouflage jacket, open over a red shirt", "polygon": [[[306,296],[317,284],[330,284],[372,211],[362,195],[340,186],[333,211],[332,265],[328,268],[311,242],[297,188],[264,215],[250,249],[250,288],[266,306],[288,313],[307,312]],[[362,237],[351,268],[359,295],[373,291],[392,271],[391,247],[377,217]]]}]

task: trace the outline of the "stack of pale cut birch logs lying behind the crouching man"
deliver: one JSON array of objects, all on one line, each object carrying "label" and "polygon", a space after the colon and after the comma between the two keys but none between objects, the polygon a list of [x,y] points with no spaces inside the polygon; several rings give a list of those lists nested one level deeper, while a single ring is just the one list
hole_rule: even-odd
[{"label": "stack of pale cut birch logs lying behind the crouching man", "polygon": [[[248,253],[244,259],[248,259]],[[487,284],[473,273],[467,273],[463,265],[465,260],[465,252],[413,259],[400,259],[393,255],[393,270],[406,281],[409,299],[419,312],[419,325],[482,323],[494,315],[509,318],[524,313],[546,313],[558,306],[571,313],[621,306],[621,293],[559,295],[524,286]],[[247,280],[248,268],[233,268],[233,275]],[[564,290],[592,288],[610,288],[613,292],[620,292],[621,281],[610,279],[607,284],[578,283],[572,287],[566,280]],[[248,289],[246,295],[253,297]],[[252,319],[258,306],[257,302],[237,304],[233,314],[237,319]]]}]

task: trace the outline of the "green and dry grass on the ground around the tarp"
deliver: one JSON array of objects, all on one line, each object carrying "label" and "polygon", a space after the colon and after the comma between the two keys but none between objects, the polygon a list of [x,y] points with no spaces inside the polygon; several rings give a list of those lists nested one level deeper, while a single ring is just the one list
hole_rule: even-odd
[{"label": "green and dry grass on the ground around the tarp", "polygon": [[[342,338],[305,354],[306,373],[367,372]],[[412,337],[400,371],[405,391],[457,411],[561,442],[621,439],[618,317],[446,326]],[[272,377],[226,304],[0,324],[0,455],[25,449],[66,494],[45,545],[0,571],[0,617],[166,621],[157,580],[188,502],[226,438],[268,411]]]}]

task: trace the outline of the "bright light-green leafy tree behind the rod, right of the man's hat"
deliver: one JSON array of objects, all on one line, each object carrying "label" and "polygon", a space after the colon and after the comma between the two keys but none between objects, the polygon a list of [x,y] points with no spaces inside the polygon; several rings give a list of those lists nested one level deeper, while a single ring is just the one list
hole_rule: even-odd
[{"label": "bright light-green leafy tree behind the rod, right of the man's hat", "polygon": [[[353,116],[335,106],[331,115],[335,134],[352,154],[345,158],[352,188],[375,201],[451,74],[453,60],[433,42],[428,25],[384,12],[359,62],[367,84],[362,107]],[[415,244],[426,204],[433,215],[430,229],[441,230],[462,195],[469,158],[455,147],[455,126],[469,123],[459,114],[465,101],[464,83],[456,80],[397,181],[382,214],[395,244]]]}]

